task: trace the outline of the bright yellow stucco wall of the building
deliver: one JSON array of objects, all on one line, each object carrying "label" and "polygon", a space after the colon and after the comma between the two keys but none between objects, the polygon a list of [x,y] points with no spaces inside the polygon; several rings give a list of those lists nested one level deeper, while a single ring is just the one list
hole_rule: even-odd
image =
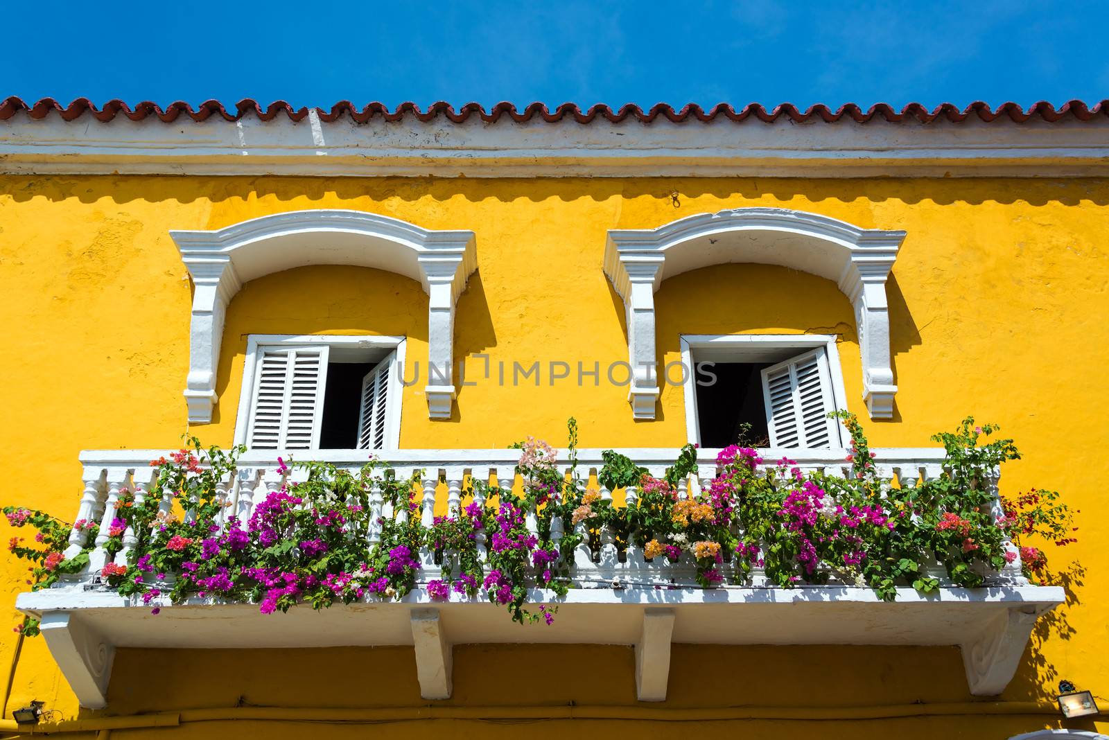
[{"label": "bright yellow stucco wall of the building", "polygon": [[[680,194],[679,207],[671,192]],[[1071,604],[1039,623],[1034,648],[1005,698],[1049,697],[1059,678],[1109,693],[1103,660],[1109,606],[1102,598],[1109,588],[1109,551],[1101,545],[1109,532],[1100,516],[1102,482],[1109,477],[1109,394],[1101,389],[1109,358],[1106,181],[0,177],[0,326],[6,332],[0,503],[31,502],[70,517],[80,492],[80,450],[171,446],[186,431],[181,391],[191,286],[170,229],[218,228],[318,207],[366,210],[427,228],[472,229],[478,273],[458,304],[456,358],[487,352],[494,363],[509,366],[580,360],[603,368],[627,359],[622,302],[601,271],[606,230],[651,228],[695,213],[755,205],[908,233],[887,287],[899,386],[896,414],[892,421],[866,422],[872,442],[926,446],[929,434],[953,428],[968,413],[1000,423],[1017,439],[1025,458],[1005,469],[1003,489],[1044,485],[1065,492],[1068,503],[1081,510],[1080,542],[1055,553],[1056,564],[1067,568],[1074,558],[1081,567],[1070,571]],[[678,359],[679,333],[841,333],[848,404],[865,417],[854,319],[833,284],[780,267],[730,265],[675,277],[657,300],[663,362]],[[416,282],[365,268],[301,268],[246,285],[228,309],[215,421],[189,431],[205,442],[231,442],[247,333],[403,333],[409,337],[409,361],[426,363],[426,306]],[[562,444],[569,414],[579,420],[582,446],[684,441],[678,388],[663,391],[657,421],[634,422],[625,389],[604,382],[598,388],[484,382],[461,390],[455,420],[433,422],[421,386],[405,392],[404,446],[503,446],[529,433]],[[4,558],[2,567],[0,608],[14,624],[10,607],[24,586],[16,564]],[[507,617],[506,627],[515,627]],[[0,672],[7,672],[16,649],[16,636],[6,635]],[[631,658],[623,648],[545,650],[466,648],[456,655],[459,688],[452,701],[633,703]],[[250,658],[123,651],[112,709],[226,706],[237,693],[279,706],[418,703],[418,691],[407,690],[415,680],[410,652],[397,655],[384,649],[356,656],[269,651]],[[564,686],[550,695],[526,688],[519,677],[525,656],[532,655]],[[206,678],[200,678],[202,659]],[[283,666],[307,667],[317,680],[288,679]],[[176,677],[172,697],[146,691],[142,676],[150,670]],[[398,680],[405,690],[401,684],[374,689],[348,680],[352,672],[389,670],[403,675]],[[767,670],[779,671],[779,680],[754,678]],[[328,678],[336,676],[342,679]],[[505,680],[495,679],[497,688],[490,688],[490,676]],[[231,688],[216,691],[215,681]],[[262,699],[254,700],[255,695]],[[65,717],[78,713],[41,639],[23,644],[8,707],[32,698]],[[956,650],[676,647],[667,703],[917,699],[969,700]],[[881,720],[863,723],[865,733],[854,737],[1007,737],[1050,721]],[[411,727],[375,731],[391,737]],[[475,736],[516,731],[489,723],[427,727]],[[552,722],[533,729],[566,727]],[[611,729],[603,722],[587,727]],[[834,722],[818,731],[805,722],[744,727],[752,737],[831,737],[843,729]],[[243,737],[275,728],[236,726]],[[648,736],[674,731],[649,722],[637,728]],[[705,728],[735,731],[734,723]],[[211,731],[213,726],[193,724],[174,732],[205,737]],[[306,733],[305,727],[282,731]]]}]

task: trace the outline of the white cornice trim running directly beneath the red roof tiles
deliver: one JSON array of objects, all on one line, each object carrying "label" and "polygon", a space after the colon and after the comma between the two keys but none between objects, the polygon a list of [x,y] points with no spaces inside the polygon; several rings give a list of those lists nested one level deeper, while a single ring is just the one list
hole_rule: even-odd
[{"label": "white cornice trim running directly beneath the red roof tiles", "polygon": [[4,174],[399,177],[1088,177],[1109,172],[1109,121],[795,124],[719,119],[365,124],[277,116],[172,124],[118,115],[0,121]]}]

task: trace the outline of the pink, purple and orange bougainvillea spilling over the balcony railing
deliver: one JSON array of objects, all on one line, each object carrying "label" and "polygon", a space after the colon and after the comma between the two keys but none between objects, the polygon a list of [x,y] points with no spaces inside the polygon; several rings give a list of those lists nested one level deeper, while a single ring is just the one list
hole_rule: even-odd
[{"label": "pink, purple and orange bougainvillea spilling over the balcony railing", "polygon": [[[593,554],[607,543],[600,546],[610,556],[622,548],[625,558],[660,568],[690,567],[706,588],[756,576],[781,587],[834,580],[885,599],[899,585],[935,590],[942,576],[981,586],[1018,552],[1026,576],[1041,575],[1046,555],[1035,543],[1075,542],[1072,514],[1058,493],[1032,490],[999,502],[996,470],[1018,453],[1011,440],[991,439],[995,426],[967,419],[937,434],[945,474],[893,484],[879,477],[858,421],[838,417],[851,434],[843,475],[805,473],[788,459],[767,463],[757,450],[732,445],[718,455],[716,475],[686,492],[684,482],[698,472],[693,445],[662,477],[607,450],[597,482],[607,491],[634,490],[624,505],[579,476],[571,419],[569,471],[550,445],[529,438],[515,445],[520,486],[471,476],[446,515],[424,512],[430,526],[414,500],[419,475],[398,479],[375,459],[358,471],[278,459],[278,475],[267,476],[278,482],[257,494],[244,483],[232,502],[228,482],[242,448],[204,449],[195,439],[151,463],[157,471],[151,492],[119,492],[96,546],[92,523],[70,525],[14,506],[4,513],[12,526],[39,532],[41,546],[20,537],[10,543],[31,562],[33,588],[83,572],[99,547],[104,565],[94,575],[147,605],[200,597],[250,602],[264,613],[298,603],[321,609],[403,598],[424,585],[435,600],[484,595],[517,621],[548,624],[556,607],[529,608],[533,589],[557,598],[581,585],[573,554],[586,541]],[[433,566],[438,577],[425,580]],[[663,569],[655,573],[657,583],[642,585],[669,585]],[[33,634],[34,625],[20,629]]]}]

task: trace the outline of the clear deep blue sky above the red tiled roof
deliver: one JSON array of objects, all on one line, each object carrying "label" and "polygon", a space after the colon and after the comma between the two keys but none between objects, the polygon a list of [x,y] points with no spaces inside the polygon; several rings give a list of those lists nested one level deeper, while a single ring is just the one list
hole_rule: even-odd
[{"label": "clear deep blue sky above the red tiled roof", "polygon": [[301,105],[1109,97],[1109,2],[12,2],[0,97]]}]

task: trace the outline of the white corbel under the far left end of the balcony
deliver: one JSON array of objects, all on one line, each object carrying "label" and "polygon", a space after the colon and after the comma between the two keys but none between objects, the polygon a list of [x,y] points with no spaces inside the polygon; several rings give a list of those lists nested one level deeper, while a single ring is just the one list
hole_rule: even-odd
[{"label": "white corbel under the far left end of the balcony", "polygon": [[115,646],[71,611],[43,614],[39,629],[81,706],[89,709],[106,707]]}]

